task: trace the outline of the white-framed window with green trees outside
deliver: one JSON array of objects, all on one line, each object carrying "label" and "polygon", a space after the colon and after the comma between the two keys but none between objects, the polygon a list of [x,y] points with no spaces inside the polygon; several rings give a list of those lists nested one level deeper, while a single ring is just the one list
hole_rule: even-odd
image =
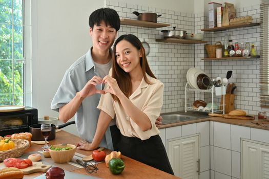
[{"label": "white-framed window with green trees outside", "polygon": [[31,105],[30,14],[30,0],[0,0],[0,105]]}]

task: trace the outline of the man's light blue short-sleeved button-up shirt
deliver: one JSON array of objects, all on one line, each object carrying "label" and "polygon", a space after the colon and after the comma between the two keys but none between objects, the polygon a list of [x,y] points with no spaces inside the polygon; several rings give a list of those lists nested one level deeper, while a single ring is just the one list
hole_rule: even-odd
[{"label": "man's light blue short-sleeved button-up shirt", "polygon": [[[51,109],[59,111],[59,108],[69,103],[75,97],[76,93],[81,91],[85,84],[95,75],[99,76],[94,66],[91,50],[89,50],[85,55],[75,61],[66,71],[51,102]],[[96,88],[102,89],[102,85],[97,84]],[[74,116],[80,138],[88,142],[92,142],[96,131],[100,113],[99,109],[96,107],[99,103],[100,96],[100,94],[95,94],[85,98]],[[111,125],[115,125],[115,120],[112,120],[110,126]],[[109,127],[99,146],[113,150]]]}]

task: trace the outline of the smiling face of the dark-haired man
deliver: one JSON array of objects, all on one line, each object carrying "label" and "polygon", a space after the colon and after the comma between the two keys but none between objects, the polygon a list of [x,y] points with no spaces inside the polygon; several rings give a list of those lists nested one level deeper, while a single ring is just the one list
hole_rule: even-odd
[{"label": "smiling face of the dark-haired man", "polygon": [[116,38],[116,29],[111,26],[106,26],[104,21],[101,21],[100,26],[94,25],[93,29],[90,28],[92,36],[93,48],[99,51],[107,52]]}]

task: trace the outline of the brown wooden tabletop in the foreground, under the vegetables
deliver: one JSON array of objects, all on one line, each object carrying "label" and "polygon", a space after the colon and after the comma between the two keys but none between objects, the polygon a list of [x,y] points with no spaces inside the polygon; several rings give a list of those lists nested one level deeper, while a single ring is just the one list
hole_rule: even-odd
[{"label": "brown wooden tabletop in the foreground, under the vegetables", "polygon": [[[79,141],[79,137],[72,135],[69,132],[66,132],[64,130],[56,132],[56,137],[54,140],[49,141],[50,145],[55,144],[62,144],[62,143],[69,143],[74,144]],[[37,145],[37,144],[31,144],[31,147],[29,147],[26,152],[33,152],[38,151],[43,145]],[[154,149],[153,149],[154,150]],[[92,151],[85,151],[85,150],[76,150],[77,153],[81,153],[84,155],[90,155]],[[105,149],[106,154],[109,154],[111,151],[108,149]],[[80,173],[85,175],[91,175],[95,177],[100,178],[179,178],[176,176],[173,176],[169,173],[163,172],[161,170],[158,170],[156,168],[153,168],[149,165],[143,164],[141,162],[138,162],[136,160],[133,160],[131,158],[128,158],[127,156],[122,155],[122,160],[125,163],[125,169],[123,172],[119,175],[113,175],[109,168],[106,167],[105,162],[98,164],[98,172],[97,173],[91,173],[88,174],[84,168],[74,170],[72,172],[74,173]],[[28,175],[24,175],[24,179],[30,179],[34,178],[36,176],[42,175],[43,172],[36,172]]]}]

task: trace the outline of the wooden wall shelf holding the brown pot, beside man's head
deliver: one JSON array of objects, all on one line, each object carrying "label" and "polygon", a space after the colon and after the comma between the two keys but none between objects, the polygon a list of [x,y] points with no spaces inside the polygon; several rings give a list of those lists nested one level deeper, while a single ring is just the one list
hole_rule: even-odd
[{"label": "wooden wall shelf holding the brown pot, beside man's head", "polygon": [[170,26],[170,24],[153,23],[149,21],[126,19],[126,18],[120,19],[120,24],[130,25],[130,26],[139,26],[139,27],[149,27],[149,28],[160,28],[160,27]]}]

